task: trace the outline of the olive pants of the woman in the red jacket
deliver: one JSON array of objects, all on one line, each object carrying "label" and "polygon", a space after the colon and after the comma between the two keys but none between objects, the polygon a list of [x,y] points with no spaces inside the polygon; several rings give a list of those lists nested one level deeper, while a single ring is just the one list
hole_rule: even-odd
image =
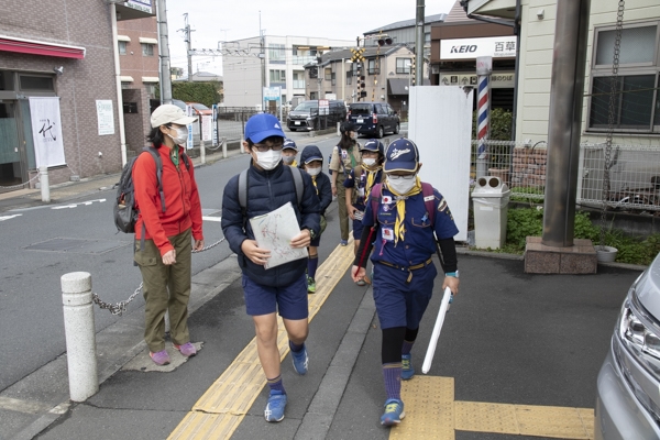
[{"label": "olive pants of the woman in the red jacket", "polygon": [[190,299],[191,235],[186,230],[169,237],[176,251],[176,263],[163,264],[161,251],[153,240],[135,240],[135,262],[142,273],[144,295],[144,341],[152,353],[165,350],[165,312],[169,312],[169,334],[175,344],[190,341],[188,300]]}]

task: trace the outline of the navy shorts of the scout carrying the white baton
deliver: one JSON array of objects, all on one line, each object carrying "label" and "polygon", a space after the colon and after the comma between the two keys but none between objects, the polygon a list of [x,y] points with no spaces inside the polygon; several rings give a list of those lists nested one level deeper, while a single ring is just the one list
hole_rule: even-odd
[{"label": "navy shorts of the scout carrying the white baton", "polygon": [[382,329],[393,327],[419,328],[419,321],[433,295],[433,280],[438,271],[431,263],[413,271],[413,279],[406,283],[407,271],[374,263],[374,301]]}]

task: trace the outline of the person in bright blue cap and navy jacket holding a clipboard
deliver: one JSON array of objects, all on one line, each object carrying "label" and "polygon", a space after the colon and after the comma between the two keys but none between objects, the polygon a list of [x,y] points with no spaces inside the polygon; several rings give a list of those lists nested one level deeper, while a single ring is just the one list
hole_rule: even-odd
[{"label": "person in bright blue cap and navy jacket holding a clipboard", "polygon": [[282,163],[284,138],[274,116],[260,113],[250,118],[243,143],[252,157],[245,188],[246,207],[240,206],[239,176],[229,180],[222,196],[222,231],[243,271],[245,307],[254,320],[258,359],[271,389],[264,411],[267,421],[284,419],[287,402],[280,376],[276,312],[282,316],[289,338],[294,369],[300,375],[307,373],[307,258],[266,270],[264,264],[271,252],[257,246],[249,219],[290,202],[301,231],[292,240],[292,248],[307,248],[320,230],[319,199],[309,175],[300,173],[302,196],[298,204],[293,175],[298,169]]}]

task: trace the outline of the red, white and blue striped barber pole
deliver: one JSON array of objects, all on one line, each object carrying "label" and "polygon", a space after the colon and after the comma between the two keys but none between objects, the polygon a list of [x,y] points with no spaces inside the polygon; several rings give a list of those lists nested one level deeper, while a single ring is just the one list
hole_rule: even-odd
[{"label": "red, white and blue striped barber pole", "polygon": [[479,90],[479,102],[477,102],[477,131],[476,139],[479,141],[479,147],[476,150],[476,177],[483,177],[487,175],[487,158],[488,148],[486,140],[488,139],[488,132],[491,130],[490,124],[490,111],[491,111],[491,72],[493,69],[493,58],[490,56],[476,58],[476,74],[477,74],[477,90]]}]

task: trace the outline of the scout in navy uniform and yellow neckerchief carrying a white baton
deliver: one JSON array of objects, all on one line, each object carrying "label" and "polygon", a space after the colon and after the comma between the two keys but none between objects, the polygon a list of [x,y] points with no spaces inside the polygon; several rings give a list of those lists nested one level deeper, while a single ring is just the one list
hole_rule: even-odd
[{"label": "scout in navy uniform and yellow neckerchief carrying a white baton", "polygon": [[431,224],[417,176],[420,167],[419,152],[413,141],[402,138],[387,147],[383,167],[387,178],[371,195],[377,198],[377,212],[374,216],[372,202],[366,204],[361,244],[351,270],[353,280],[364,276],[365,256],[373,245],[374,301],[383,332],[381,358],[387,393],[381,417],[385,426],[398,425],[405,416],[400,380],[410,380],[415,374],[410,350],[438,274],[431,261],[437,250],[436,237],[447,271],[442,289],[449,287],[454,295],[459,292],[453,241],[459,230],[447,201],[435,188],[433,196],[428,196],[433,198],[435,207]]}]

